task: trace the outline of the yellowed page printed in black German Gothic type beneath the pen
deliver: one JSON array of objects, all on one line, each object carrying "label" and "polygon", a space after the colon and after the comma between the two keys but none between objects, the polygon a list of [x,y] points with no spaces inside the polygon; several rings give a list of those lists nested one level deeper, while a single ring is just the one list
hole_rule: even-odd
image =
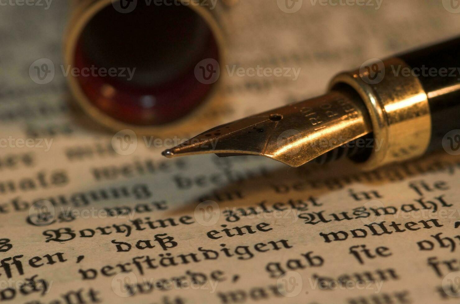
[{"label": "yellowed page printed in black German Gothic type beneath the pen", "polygon": [[[223,16],[224,73],[292,77],[223,75],[224,107],[127,146],[69,106],[67,1],[19,2],[0,10],[0,302],[458,303],[458,156],[362,173],[160,155],[215,124],[321,94],[368,59],[458,34],[449,1],[304,0],[297,11],[240,1]],[[37,84],[29,68],[43,58],[55,75]]]}]

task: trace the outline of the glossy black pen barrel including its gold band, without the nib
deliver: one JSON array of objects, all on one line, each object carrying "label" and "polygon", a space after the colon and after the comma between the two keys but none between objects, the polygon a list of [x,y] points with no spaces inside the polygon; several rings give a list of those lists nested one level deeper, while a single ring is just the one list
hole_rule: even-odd
[{"label": "glossy black pen barrel including its gold band, without the nib", "polygon": [[444,138],[459,141],[460,131],[449,132],[460,129],[460,37],[365,62],[330,84],[331,90],[346,87],[366,105],[372,137],[381,143],[360,153],[363,169],[445,148]]}]

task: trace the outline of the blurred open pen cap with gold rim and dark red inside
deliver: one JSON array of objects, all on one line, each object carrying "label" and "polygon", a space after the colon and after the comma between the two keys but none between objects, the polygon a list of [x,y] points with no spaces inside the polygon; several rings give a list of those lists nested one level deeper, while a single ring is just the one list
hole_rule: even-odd
[{"label": "blurred open pen cap with gold rim and dark red inside", "polygon": [[220,0],[76,0],[64,55],[75,100],[105,126],[186,125],[224,58]]}]

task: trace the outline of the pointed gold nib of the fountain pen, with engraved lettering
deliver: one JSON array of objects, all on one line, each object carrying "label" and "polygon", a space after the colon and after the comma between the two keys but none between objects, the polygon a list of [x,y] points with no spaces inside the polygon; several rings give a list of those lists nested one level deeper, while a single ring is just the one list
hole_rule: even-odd
[{"label": "pointed gold nib of the fountain pen, with engraved lettering", "polygon": [[260,155],[299,167],[370,132],[370,118],[359,97],[331,91],[223,124],[162,154]]}]

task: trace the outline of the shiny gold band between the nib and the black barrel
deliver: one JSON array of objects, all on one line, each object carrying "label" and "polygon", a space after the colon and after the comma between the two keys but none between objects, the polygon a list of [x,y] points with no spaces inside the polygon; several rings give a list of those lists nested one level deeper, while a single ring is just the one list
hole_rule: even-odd
[{"label": "shiny gold band between the nib and the black barrel", "polygon": [[360,69],[339,73],[329,86],[351,86],[368,108],[374,147],[370,157],[359,164],[364,170],[419,157],[431,139],[430,107],[420,80],[414,75],[395,73],[410,68],[399,58],[381,63],[374,65],[378,70],[373,71],[375,75],[380,73],[380,79],[370,79],[370,71]]}]

